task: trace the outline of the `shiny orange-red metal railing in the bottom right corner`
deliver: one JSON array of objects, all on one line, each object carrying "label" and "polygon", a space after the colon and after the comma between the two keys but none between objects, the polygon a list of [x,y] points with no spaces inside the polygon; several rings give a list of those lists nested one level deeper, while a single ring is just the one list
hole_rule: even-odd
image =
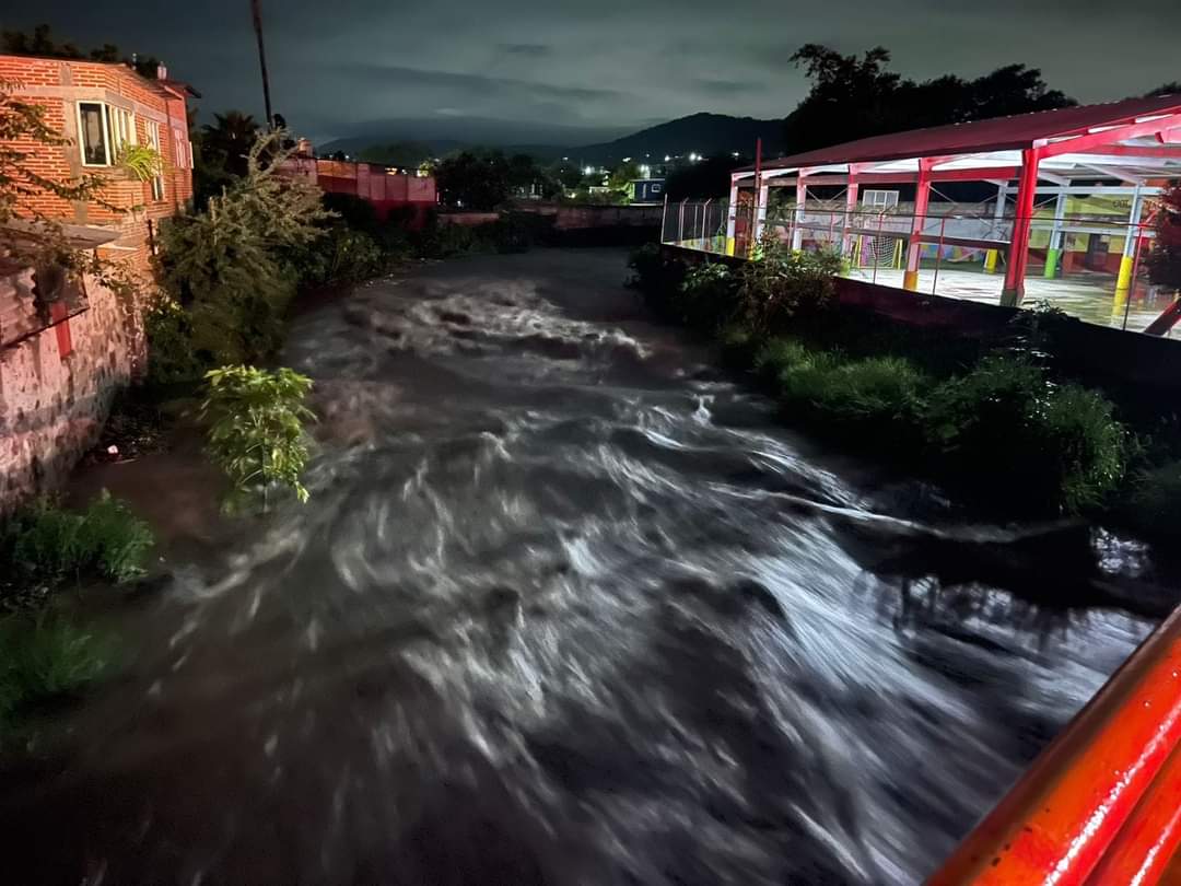
[{"label": "shiny orange-red metal railing in the bottom right corner", "polygon": [[929,886],[1149,886],[1181,842],[1181,610],[1042,753]]}]

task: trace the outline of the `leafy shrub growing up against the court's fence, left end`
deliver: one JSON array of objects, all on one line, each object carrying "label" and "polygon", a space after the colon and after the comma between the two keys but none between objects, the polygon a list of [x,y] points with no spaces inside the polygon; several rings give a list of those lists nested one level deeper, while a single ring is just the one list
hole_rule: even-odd
[{"label": "leafy shrub growing up against the court's fence, left end", "polygon": [[759,237],[757,252],[761,258],[743,265],[738,285],[739,311],[756,333],[774,333],[798,311],[830,302],[841,272],[840,255],[792,252],[774,229]]}]

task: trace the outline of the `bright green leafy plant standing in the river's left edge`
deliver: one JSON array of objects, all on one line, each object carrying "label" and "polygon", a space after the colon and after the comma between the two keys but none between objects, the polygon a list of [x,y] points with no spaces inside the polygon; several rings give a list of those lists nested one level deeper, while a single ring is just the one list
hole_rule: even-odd
[{"label": "bright green leafy plant standing in the river's left edge", "polygon": [[208,452],[233,487],[227,509],[272,487],[287,487],[299,501],[308,493],[300,478],[308,460],[304,430],[314,418],[305,399],[312,379],[282,367],[222,366],[205,373],[201,415],[209,423]]}]

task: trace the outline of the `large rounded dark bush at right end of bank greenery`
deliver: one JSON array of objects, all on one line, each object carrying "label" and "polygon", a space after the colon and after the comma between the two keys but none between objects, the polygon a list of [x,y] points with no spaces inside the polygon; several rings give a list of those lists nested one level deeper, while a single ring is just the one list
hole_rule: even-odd
[{"label": "large rounded dark bush at right end of bank greenery", "polygon": [[1102,395],[1055,386],[1037,366],[990,357],[938,385],[928,442],[948,476],[1009,503],[1077,512],[1123,476],[1127,432]]}]

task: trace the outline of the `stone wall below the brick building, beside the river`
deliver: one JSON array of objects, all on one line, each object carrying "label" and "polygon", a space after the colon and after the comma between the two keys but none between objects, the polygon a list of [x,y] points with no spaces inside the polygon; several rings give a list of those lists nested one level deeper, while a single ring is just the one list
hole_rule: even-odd
[{"label": "stone wall below the brick building, beside the river", "polygon": [[[30,274],[0,276],[0,300],[30,291]],[[129,306],[84,285],[81,313],[0,348],[0,510],[66,477],[144,359]]]}]

